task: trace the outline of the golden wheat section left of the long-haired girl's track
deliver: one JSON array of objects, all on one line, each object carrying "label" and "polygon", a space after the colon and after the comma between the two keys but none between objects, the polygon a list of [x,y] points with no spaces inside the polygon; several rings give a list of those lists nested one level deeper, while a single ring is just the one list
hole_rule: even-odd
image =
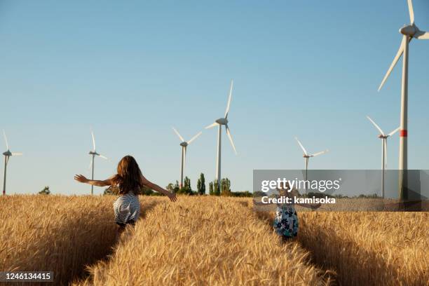
[{"label": "golden wheat section left of the long-haired girl's track", "polygon": [[106,257],[114,245],[113,200],[1,197],[0,271],[54,271],[55,282],[62,284],[82,276],[86,264]]}]

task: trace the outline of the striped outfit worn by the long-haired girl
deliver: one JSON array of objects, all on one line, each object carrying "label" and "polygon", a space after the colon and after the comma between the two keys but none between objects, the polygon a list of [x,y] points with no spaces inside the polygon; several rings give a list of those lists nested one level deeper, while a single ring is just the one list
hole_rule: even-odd
[{"label": "striped outfit worn by the long-haired girl", "polygon": [[138,196],[131,191],[118,196],[114,202],[116,224],[136,222],[140,215],[140,202]]}]

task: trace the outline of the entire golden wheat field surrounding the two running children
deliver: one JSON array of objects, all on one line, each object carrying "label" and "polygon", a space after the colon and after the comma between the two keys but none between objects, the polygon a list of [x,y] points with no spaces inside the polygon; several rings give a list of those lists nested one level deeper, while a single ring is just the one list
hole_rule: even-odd
[{"label": "entire golden wheat field surrounding the two running children", "polygon": [[[427,285],[427,212],[299,212],[281,243],[249,198],[140,197],[116,243],[114,196],[0,198],[0,271],[64,285]],[[29,284],[26,284],[29,285]]]}]

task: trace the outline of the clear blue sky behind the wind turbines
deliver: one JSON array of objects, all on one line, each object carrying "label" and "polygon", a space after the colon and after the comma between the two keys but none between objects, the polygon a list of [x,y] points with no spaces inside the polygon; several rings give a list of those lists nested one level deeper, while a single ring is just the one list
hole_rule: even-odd
[{"label": "clear blue sky behind the wind turbines", "polygon": [[[376,2],[376,3],[375,3]],[[429,29],[429,3],[414,0],[416,25]],[[73,175],[112,175],[132,154],[148,179],[179,179],[179,139],[223,116],[238,156],[223,137],[223,177],[252,190],[253,169],[303,168],[308,151],[329,149],[310,168],[378,169],[381,142],[369,114],[399,125],[398,64],[383,75],[409,23],[406,1],[1,1],[0,129],[12,151],[8,193],[86,194]],[[429,41],[411,41],[409,168],[429,169]],[[215,130],[188,150],[196,188],[214,178]],[[397,136],[388,166],[397,168]],[[4,148],[3,140],[1,150]],[[3,168],[1,168],[3,173]],[[208,186],[207,186],[208,188]],[[95,193],[102,193],[96,188]]]}]

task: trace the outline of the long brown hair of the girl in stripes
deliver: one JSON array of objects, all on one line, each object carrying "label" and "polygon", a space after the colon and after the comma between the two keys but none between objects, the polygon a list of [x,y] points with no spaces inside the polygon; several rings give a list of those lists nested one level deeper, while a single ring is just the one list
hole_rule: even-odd
[{"label": "long brown hair of the girl in stripes", "polygon": [[135,195],[142,189],[142,171],[132,156],[125,156],[118,163],[118,174],[111,179],[111,186],[118,186],[119,193],[132,191]]}]

